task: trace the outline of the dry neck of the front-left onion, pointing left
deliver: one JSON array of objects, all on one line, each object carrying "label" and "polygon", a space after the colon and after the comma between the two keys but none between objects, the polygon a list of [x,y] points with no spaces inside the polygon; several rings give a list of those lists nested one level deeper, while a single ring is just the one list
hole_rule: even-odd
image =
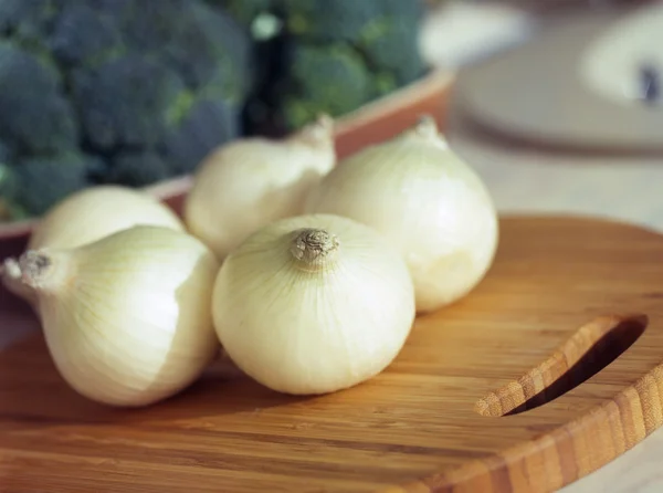
[{"label": "dry neck of the front-left onion, pointing left", "polygon": [[57,291],[69,277],[67,260],[63,254],[28,250],[18,262],[23,285],[36,293]]}]

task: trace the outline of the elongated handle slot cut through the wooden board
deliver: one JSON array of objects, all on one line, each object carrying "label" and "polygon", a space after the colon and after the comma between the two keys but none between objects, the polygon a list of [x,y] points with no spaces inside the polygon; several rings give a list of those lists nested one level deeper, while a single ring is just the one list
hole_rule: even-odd
[{"label": "elongated handle slot cut through the wooden board", "polygon": [[648,323],[644,314],[592,319],[544,363],[476,401],[474,410],[486,417],[517,415],[561,397],[622,355]]}]

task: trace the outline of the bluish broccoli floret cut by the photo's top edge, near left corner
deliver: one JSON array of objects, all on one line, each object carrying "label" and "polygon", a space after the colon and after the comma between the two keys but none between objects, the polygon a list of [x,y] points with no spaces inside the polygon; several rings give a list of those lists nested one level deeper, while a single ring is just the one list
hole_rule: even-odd
[{"label": "bluish broccoli floret cut by the photo's top edge, near left corner", "polygon": [[57,18],[50,46],[63,64],[91,66],[120,53],[123,42],[113,17],[76,2],[66,6]]}]

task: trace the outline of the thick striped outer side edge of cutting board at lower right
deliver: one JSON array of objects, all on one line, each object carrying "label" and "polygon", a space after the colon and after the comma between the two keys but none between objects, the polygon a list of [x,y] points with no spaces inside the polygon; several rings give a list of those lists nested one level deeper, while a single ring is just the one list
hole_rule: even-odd
[{"label": "thick striped outer side edge of cutting board at lower right", "polygon": [[[632,449],[663,424],[663,364],[613,400],[541,437],[446,473],[380,493],[532,493],[559,490]],[[624,431],[627,430],[627,431]],[[601,442],[601,437],[611,437]],[[590,439],[589,439],[590,438]],[[593,447],[589,443],[593,441]],[[578,464],[578,465],[576,465]]]}]

